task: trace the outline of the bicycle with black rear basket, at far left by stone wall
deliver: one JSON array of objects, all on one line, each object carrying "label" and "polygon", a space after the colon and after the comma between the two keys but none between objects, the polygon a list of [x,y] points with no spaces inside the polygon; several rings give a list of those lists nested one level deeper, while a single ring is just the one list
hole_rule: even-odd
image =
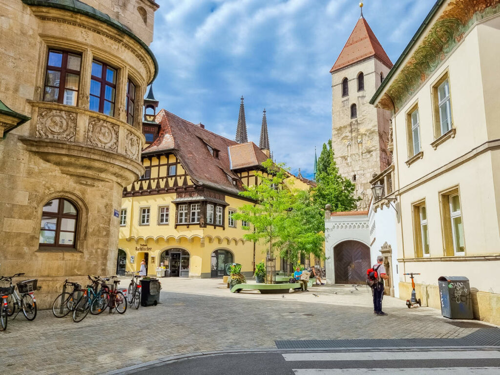
[{"label": "bicycle with black rear basket, at far left by stone wall", "polygon": [[[36,278],[30,280],[19,281],[16,283],[17,290],[20,293],[17,294],[15,291],[15,286],[12,285],[12,278],[22,276],[24,273],[16,273],[12,276],[1,276],[0,281],[8,281],[9,287],[11,288],[11,293],[7,297],[7,315],[12,316],[15,312],[15,308],[19,308],[17,314],[22,310],[24,317],[28,320],[34,320],[36,317],[36,298],[34,295],[34,290],[39,290],[40,288],[36,286],[38,280]],[[17,314],[15,316],[17,316]],[[15,319],[15,316],[13,319]]]}]

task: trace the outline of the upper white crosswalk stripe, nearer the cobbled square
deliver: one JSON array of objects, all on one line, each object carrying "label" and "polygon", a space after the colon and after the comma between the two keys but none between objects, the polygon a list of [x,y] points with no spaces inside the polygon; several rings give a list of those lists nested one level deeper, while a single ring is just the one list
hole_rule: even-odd
[{"label": "upper white crosswalk stripe, nearer the cobbled square", "polygon": [[367,351],[334,353],[283,353],[287,361],[318,360],[413,360],[413,359],[500,359],[498,350]]}]

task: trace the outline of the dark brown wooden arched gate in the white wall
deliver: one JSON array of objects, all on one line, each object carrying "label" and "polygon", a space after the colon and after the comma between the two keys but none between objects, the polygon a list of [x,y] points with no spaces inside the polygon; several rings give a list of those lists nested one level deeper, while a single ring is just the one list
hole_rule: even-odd
[{"label": "dark brown wooden arched gate in the white wall", "polygon": [[370,248],[359,241],[343,241],[333,247],[336,284],[363,284],[370,267]]}]

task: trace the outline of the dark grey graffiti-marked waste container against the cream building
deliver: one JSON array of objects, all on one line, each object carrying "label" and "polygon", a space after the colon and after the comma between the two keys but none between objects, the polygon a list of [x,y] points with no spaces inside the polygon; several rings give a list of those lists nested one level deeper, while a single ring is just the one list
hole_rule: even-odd
[{"label": "dark grey graffiti-marked waste container against the cream building", "polygon": [[437,279],[441,295],[441,314],[450,319],[473,319],[472,299],[467,277],[441,276]]}]

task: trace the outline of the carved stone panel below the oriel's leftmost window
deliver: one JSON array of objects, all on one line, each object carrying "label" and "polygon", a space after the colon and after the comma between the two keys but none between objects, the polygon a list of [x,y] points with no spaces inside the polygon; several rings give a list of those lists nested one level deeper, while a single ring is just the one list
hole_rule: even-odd
[{"label": "carved stone panel below the oriel's leftmost window", "polygon": [[74,142],[76,114],[66,110],[40,108],[36,119],[36,137]]}]

